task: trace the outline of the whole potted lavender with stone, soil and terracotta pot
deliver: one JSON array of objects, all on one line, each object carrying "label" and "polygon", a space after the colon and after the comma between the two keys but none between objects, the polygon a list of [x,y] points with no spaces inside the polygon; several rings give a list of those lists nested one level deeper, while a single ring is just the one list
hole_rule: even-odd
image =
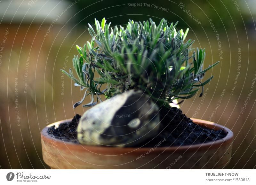
[{"label": "whole potted lavender with stone, soil and terracotta pot", "polygon": [[[180,99],[203,95],[204,49],[192,53],[188,29],[162,19],[130,20],[110,27],[105,18],[89,24],[90,42],[76,46],[77,77],[62,70],[89,96],[83,116],[41,132],[43,158],[52,169],[223,168],[229,163],[233,133],[175,107]],[[192,62],[190,62],[192,61]],[[106,98],[105,101],[102,99]],[[100,103],[98,103],[98,101]],[[182,101],[180,101],[181,103]],[[98,103],[98,104],[97,104]]]}]

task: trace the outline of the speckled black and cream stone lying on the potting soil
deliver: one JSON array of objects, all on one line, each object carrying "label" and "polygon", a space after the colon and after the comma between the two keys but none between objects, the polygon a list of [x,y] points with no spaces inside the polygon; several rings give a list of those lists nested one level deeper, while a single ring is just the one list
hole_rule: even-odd
[{"label": "speckled black and cream stone lying on the potting soil", "polygon": [[158,106],[142,91],[129,90],[95,105],[77,127],[79,143],[135,146],[157,134]]}]

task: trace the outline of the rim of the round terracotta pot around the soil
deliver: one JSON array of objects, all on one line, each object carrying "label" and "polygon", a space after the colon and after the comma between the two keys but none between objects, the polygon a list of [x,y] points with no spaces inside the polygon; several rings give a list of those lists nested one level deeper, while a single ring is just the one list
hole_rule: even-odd
[{"label": "rim of the round terracotta pot around the soil", "polygon": [[[129,152],[147,152],[148,150],[154,148],[154,147],[125,147],[125,148],[120,148],[120,147],[110,147],[110,146],[89,146],[89,145],[82,145],[79,143],[72,143],[72,142],[67,142],[63,141],[61,139],[56,139],[53,138],[50,134],[47,133],[47,130],[49,127],[55,125],[58,126],[61,123],[66,123],[66,122],[71,122],[72,119],[65,119],[61,121],[57,121],[55,123],[49,124],[46,127],[43,128],[41,131],[41,138],[44,142],[49,142],[49,143],[56,143],[56,145],[59,145],[61,148],[67,148],[69,150],[88,150],[89,152],[96,153],[101,155],[106,155],[104,154],[105,152],[107,153],[113,153],[113,155],[123,155],[125,153]],[[228,133],[224,138],[219,139],[217,141],[213,142],[208,142],[208,143],[202,143],[202,144],[194,144],[194,145],[185,145],[185,146],[171,146],[171,147],[157,147],[156,149],[154,148],[153,152],[173,152],[173,153],[181,153],[184,151],[197,151],[197,150],[208,150],[209,148],[216,148],[216,150],[222,145],[222,144],[228,144],[233,141],[233,132],[222,125],[219,125],[217,123],[211,122],[211,121],[206,121],[202,119],[192,119],[194,123],[199,124],[201,126],[210,126],[210,128],[214,130],[220,130],[223,129],[224,132]],[[100,153],[99,153],[100,152]]]}]

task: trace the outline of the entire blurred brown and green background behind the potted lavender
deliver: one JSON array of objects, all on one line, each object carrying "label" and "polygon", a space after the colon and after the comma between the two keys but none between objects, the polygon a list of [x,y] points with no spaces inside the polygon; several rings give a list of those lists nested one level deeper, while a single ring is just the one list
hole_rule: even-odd
[{"label": "entire blurred brown and green background behind the potted lavender", "polygon": [[188,117],[210,120],[234,132],[226,168],[255,168],[255,0],[2,0],[1,169],[49,168],[42,159],[40,131],[86,111],[72,108],[84,94],[60,69],[73,69],[75,45],[84,45],[90,39],[88,23],[94,25],[94,18],[103,17],[112,26],[129,19],[159,23],[165,18],[169,23],[179,21],[178,29],[188,27],[187,39],[206,50],[204,66],[220,64],[207,74],[214,78],[205,86],[205,98],[198,94],[180,108]]}]

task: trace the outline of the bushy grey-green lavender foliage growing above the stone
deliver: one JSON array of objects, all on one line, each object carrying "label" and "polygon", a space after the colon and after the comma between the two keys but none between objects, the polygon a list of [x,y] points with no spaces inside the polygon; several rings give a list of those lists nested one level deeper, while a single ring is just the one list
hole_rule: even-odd
[{"label": "bushy grey-green lavender foliage growing above the stone", "polygon": [[[130,89],[144,91],[160,107],[169,106],[174,99],[190,98],[200,87],[203,93],[203,86],[213,77],[202,82],[204,73],[219,62],[203,69],[204,49],[197,48],[189,56],[194,41],[185,41],[188,29],[177,31],[176,25],[162,19],[157,26],[149,19],[143,23],[130,20],[126,28],[110,27],[105,18],[101,23],[95,19],[95,30],[90,24],[88,29],[91,41],[84,47],[76,45],[79,54],[73,66],[77,77],[71,69],[69,73],[61,70],[85,89],[74,108],[86,96],[91,102],[84,107],[97,104],[99,95],[109,98]],[[99,78],[94,77],[95,72]]]}]

